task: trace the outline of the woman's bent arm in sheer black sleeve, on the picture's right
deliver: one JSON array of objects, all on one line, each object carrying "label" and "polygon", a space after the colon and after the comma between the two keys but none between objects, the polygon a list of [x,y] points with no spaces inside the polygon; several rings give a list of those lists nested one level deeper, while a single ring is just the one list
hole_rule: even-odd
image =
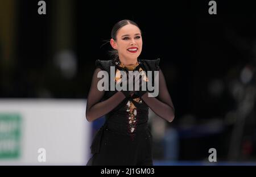
[{"label": "woman's bent arm in sheer black sleeve, on the picture's right", "polygon": [[155,97],[148,97],[148,92],[141,97],[148,107],[152,109],[159,117],[172,122],[175,117],[174,104],[172,104],[171,96],[168,92],[166,81],[162,70],[159,69],[159,95],[158,99]]}]

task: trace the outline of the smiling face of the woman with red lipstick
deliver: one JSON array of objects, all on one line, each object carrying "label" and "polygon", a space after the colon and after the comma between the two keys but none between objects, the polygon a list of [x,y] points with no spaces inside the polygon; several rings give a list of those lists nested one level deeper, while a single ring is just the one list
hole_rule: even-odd
[{"label": "smiling face of the woman with red lipstick", "polygon": [[112,40],[111,44],[118,50],[119,58],[137,60],[142,51],[141,30],[133,24],[127,24],[119,29],[117,39]]}]

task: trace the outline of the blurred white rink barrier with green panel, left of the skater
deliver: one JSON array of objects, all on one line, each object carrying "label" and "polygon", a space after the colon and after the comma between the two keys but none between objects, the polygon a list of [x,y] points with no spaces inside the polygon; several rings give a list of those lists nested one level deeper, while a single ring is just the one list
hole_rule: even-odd
[{"label": "blurred white rink barrier with green panel, left of the skater", "polygon": [[0,165],[86,165],[86,100],[0,99]]}]

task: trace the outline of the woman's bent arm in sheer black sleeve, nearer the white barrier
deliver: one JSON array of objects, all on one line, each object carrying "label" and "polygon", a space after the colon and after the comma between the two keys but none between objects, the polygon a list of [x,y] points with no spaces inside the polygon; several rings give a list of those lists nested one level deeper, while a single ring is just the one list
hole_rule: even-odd
[{"label": "woman's bent arm in sheer black sleeve, nearer the white barrier", "polygon": [[87,98],[85,116],[88,121],[93,121],[100,118],[101,116],[106,115],[106,113],[112,111],[112,109],[117,107],[118,104],[126,98],[121,91],[118,91],[109,99],[100,102],[101,98],[104,96],[105,91],[100,91],[97,87],[98,81],[101,79],[97,78],[99,71],[101,71],[101,69],[97,68],[93,73],[92,84],[90,86],[90,91]]}]

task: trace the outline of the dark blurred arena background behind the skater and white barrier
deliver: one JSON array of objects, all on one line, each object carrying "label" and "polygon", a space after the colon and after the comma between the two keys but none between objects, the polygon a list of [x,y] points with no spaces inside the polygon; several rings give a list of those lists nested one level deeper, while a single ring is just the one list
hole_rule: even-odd
[{"label": "dark blurred arena background behind the skater and white barrier", "polygon": [[255,161],[252,2],[216,1],[217,15],[209,1],[45,2],[39,15],[38,1],[0,0],[1,98],[86,99],[95,61],[109,60],[104,40],[130,19],[142,30],[140,58],[160,58],[176,109],[166,132],[179,150],[168,155],[160,137],[155,159],[201,161],[214,147],[220,161]]}]

